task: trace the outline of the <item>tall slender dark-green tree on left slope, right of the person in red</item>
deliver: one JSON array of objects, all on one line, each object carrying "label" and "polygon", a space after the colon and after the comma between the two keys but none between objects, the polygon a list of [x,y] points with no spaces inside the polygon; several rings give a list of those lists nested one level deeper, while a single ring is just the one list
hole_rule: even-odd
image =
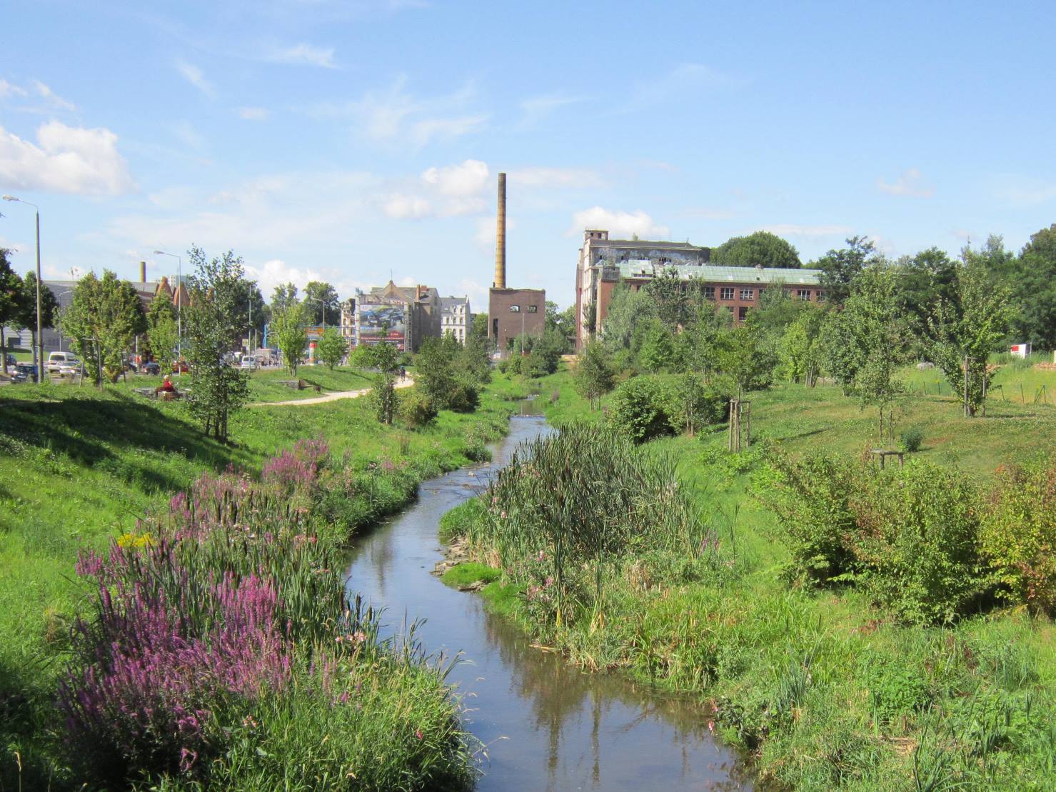
[{"label": "tall slender dark-green tree on left slope, right of the person in red", "polygon": [[223,257],[206,259],[200,247],[188,251],[194,268],[188,289],[190,304],[184,306],[191,370],[191,414],[202,422],[206,435],[227,439],[232,413],[249,400],[247,374],[227,362],[227,354],[238,348],[245,328],[241,291],[242,258],[228,250]]}]

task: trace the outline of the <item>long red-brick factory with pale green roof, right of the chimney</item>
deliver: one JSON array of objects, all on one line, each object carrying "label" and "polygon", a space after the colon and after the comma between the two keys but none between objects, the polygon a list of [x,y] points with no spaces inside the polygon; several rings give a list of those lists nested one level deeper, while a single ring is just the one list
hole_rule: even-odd
[{"label": "long red-brick factory with pale green roof, right of the chimney", "polygon": [[586,230],[576,268],[576,343],[605,326],[612,291],[620,283],[639,289],[665,270],[674,269],[680,280],[703,282],[704,296],[716,307],[727,307],[736,323],[758,306],[763,289],[784,288],[793,298],[821,301],[818,269],[727,267],[709,264],[711,249],[680,242],[610,240],[608,231]]}]

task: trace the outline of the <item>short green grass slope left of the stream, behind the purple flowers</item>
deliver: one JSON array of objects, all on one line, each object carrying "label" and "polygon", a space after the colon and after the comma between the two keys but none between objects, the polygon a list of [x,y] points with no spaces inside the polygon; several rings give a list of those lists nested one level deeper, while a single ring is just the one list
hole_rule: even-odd
[{"label": "short green grass slope left of the stream, behind the purple flowers", "polygon": [[320,436],[334,460],[326,489],[340,494],[320,514],[327,541],[343,540],[399,508],[417,482],[486,454],[515,389],[496,377],[475,413],[444,412],[420,430],[379,425],[365,399],[245,411],[230,445],[202,437],[183,404],[121,386],[0,391],[0,788],[17,789],[20,777],[23,788],[76,786],[53,737],[70,627],[89,603],[90,585],[73,573],[81,548],[103,550],[203,473],[232,465],[256,474],[281,449]]}]

